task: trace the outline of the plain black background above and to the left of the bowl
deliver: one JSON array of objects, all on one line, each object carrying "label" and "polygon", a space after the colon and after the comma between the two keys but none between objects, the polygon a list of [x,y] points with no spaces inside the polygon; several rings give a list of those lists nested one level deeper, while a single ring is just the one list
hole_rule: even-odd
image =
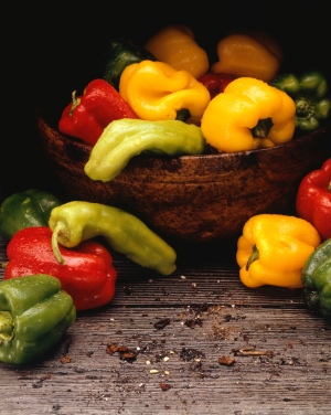
[{"label": "plain black background above and to the left of the bowl", "polygon": [[[265,30],[285,52],[284,71],[321,70],[330,79],[330,15],[327,1],[156,2],[44,2],[13,10],[2,51],[2,137],[0,202],[28,188],[57,190],[39,147],[34,114],[47,105],[54,117],[98,76],[98,57],[114,38],[131,38],[143,45],[170,23],[191,26],[196,41],[216,61],[216,43],[229,31]],[[18,20],[18,12],[20,19]],[[331,85],[331,81],[329,81]],[[331,138],[330,138],[331,139]]]}]

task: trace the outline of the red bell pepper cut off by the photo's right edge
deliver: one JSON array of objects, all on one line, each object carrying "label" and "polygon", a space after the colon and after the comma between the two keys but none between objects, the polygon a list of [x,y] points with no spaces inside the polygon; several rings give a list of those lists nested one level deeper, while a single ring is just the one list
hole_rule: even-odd
[{"label": "red bell pepper cut off by the photo's right edge", "polygon": [[316,227],[322,240],[331,237],[331,158],[301,180],[296,210],[299,217]]}]

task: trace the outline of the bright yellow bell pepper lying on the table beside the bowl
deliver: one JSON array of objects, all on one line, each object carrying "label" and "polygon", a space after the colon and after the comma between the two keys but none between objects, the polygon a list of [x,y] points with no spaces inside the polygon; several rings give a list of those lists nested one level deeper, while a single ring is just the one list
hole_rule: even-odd
[{"label": "bright yellow bell pepper lying on the table beside the bowl", "polygon": [[237,242],[239,277],[250,288],[263,285],[300,288],[302,268],[321,243],[313,225],[297,216],[259,214],[250,217]]}]

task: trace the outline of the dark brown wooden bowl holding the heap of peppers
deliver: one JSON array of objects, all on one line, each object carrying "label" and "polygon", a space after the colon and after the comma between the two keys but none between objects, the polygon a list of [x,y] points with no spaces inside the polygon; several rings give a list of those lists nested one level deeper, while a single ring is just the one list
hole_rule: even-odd
[{"label": "dark brown wooden bowl holding the heap of peppers", "polygon": [[51,169],[71,200],[121,208],[173,243],[235,238],[253,215],[295,214],[300,180],[331,155],[330,128],[324,127],[268,149],[178,158],[141,155],[103,183],[84,173],[89,146],[61,135],[41,111],[36,124]]}]

